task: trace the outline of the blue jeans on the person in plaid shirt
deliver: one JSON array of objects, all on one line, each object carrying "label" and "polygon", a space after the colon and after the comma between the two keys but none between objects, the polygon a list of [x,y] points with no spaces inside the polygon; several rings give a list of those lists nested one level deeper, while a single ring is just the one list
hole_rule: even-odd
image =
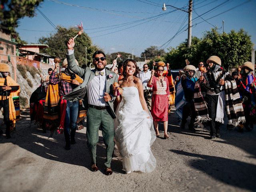
[{"label": "blue jeans on the person in plaid shirt", "polygon": [[76,130],[79,101],[67,101],[64,132],[69,134],[70,130]]}]

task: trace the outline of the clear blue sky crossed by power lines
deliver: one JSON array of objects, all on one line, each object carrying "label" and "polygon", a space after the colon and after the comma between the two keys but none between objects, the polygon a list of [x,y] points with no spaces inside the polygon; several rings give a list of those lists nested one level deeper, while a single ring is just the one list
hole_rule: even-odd
[{"label": "clear blue sky crossed by power lines", "polygon": [[[188,0],[44,0],[38,9],[54,26],[69,28],[82,22],[93,44],[106,53],[134,50],[140,56],[152,45],[167,51],[188,37],[188,13],[170,6],[162,11],[163,3],[188,10]],[[256,0],[193,0],[192,36],[200,38],[214,26],[222,32],[224,20],[225,32],[243,28],[255,48],[255,10]],[[38,38],[56,32],[40,12],[19,20],[16,30],[22,40],[37,43]]]}]

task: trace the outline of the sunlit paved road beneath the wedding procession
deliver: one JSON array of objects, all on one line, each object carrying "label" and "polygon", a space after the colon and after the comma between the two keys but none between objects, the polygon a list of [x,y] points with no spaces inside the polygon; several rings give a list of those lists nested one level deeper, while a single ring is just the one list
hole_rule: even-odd
[{"label": "sunlit paved road beneath the wedding procession", "polygon": [[48,139],[49,133],[30,124],[24,111],[12,138],[0,136],[0,191],[256,191],[256,129],[241,134],[223,126],[222,137],[209,140],[208,130],[181,130],[172,113],[168,131],[169,140],[157,138],[152,146],[157,160],[152,173],[125,174],[115,150],[114,173],[106,176],[102,137],[97,148],[100,171],[91,172],[86,128],[66,151],[63,135]]}]

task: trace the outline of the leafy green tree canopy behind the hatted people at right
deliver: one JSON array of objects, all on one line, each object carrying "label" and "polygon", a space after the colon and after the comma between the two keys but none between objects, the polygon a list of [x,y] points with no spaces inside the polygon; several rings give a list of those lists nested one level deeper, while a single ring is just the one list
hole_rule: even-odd
[{"label": "leafy green tree canopy behind the hatted people at right", "polygon": [[206,62],[212,55],[220,57],[226,70],[251,60],[252,42],[247,32],[242,29],[222,34],[214,28],[207,31],[201,39],[192,37],[190,48],[186,45],[187,40],[176,48],[170,48],[166,54],[165,60],[173,69],[184,68],[185,59],[197,67],[200,61]]}]

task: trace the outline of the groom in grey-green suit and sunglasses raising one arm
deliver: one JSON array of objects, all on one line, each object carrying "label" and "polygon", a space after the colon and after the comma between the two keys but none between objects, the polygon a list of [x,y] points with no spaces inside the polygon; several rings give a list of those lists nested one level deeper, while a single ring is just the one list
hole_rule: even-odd
[{"label": "groom in grey-green suit and sunglasses raising one arm", "polygon": [[94,70],[86,67],[85,69],[77,66],[74,56],[74,39],[68,40],[68,68],[83,78],[84,82],[64,96],[65,99],[78,100],[84,99],[87,94],[88,111],[86,136],[87,145],[92,156],[92,171],[98,171],[96,161],[96,146],[99,141],[99,127],[102,126],[102,136],[106,146],[105,174],[111,175],[110,163],[114,151],[114,95],[112,84],[118,82],[118,76],[105,68],[106,55],[102,51],[96,51],[92,58],[95,66]]}]

